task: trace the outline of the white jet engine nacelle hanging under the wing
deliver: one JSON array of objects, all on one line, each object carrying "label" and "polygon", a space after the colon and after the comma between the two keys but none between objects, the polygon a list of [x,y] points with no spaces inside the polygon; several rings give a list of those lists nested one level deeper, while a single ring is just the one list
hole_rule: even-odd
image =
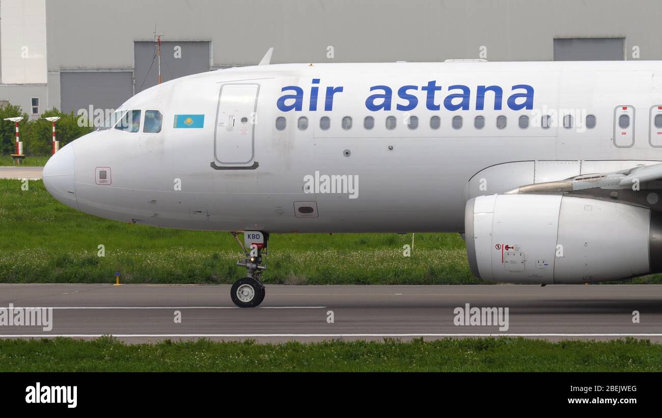
[{"label": "white jet engine nacelle hanging under the wing", "polygon": [[608,200],[493,194],[467,202],[467,256],[483,280],[570,284],[662,271],[662,215]]}]

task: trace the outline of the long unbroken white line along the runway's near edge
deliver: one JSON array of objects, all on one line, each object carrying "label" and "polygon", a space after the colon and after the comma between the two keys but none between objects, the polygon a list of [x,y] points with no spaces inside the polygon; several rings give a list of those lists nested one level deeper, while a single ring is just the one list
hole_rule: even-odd
[{"label": "long unbroken white line along the runway's near edge", "polygon": [[0,335],[0,338],[98,338],[112,335],[118,338],[187,338],[187,337],[662,337],[659,334],[25,334]]}]

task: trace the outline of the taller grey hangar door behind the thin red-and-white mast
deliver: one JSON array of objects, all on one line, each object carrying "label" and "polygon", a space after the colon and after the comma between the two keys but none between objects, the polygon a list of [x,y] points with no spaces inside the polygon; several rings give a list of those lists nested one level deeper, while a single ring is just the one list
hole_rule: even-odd
[{"label": "taller grey hangar door behind the thin red-and-white mast", "polygon": [[[134,42],[136,94],[158,84],[158,57],[155,42]],[[211,42],[161,42],[162,81],[209,71]]]}]

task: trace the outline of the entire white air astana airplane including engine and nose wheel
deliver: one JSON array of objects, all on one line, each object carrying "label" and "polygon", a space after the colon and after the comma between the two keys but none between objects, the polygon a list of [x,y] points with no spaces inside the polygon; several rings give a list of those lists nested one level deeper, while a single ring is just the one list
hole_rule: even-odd
[{"label": "entire white air astana airplane including engine and nose wheel", "polygon": [[662,271],[661,62],[271,51],[131,97],[48,161],[48,192],[111,220],[230,231],[240,308],[265,298],[270,233],[462,233],[471,272],[495,282]]}]

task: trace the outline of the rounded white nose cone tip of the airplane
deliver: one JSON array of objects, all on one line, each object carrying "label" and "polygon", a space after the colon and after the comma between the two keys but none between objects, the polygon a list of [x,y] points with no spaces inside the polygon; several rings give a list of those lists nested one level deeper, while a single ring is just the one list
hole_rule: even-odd
[{"label": "rounded white nose cone tip of the airplane", "polygon": [[48,159],[44,166],[42,179],[44,179],[44,187],[54,198],[67,206],[78,209],[73,144],[68,144]]}]

